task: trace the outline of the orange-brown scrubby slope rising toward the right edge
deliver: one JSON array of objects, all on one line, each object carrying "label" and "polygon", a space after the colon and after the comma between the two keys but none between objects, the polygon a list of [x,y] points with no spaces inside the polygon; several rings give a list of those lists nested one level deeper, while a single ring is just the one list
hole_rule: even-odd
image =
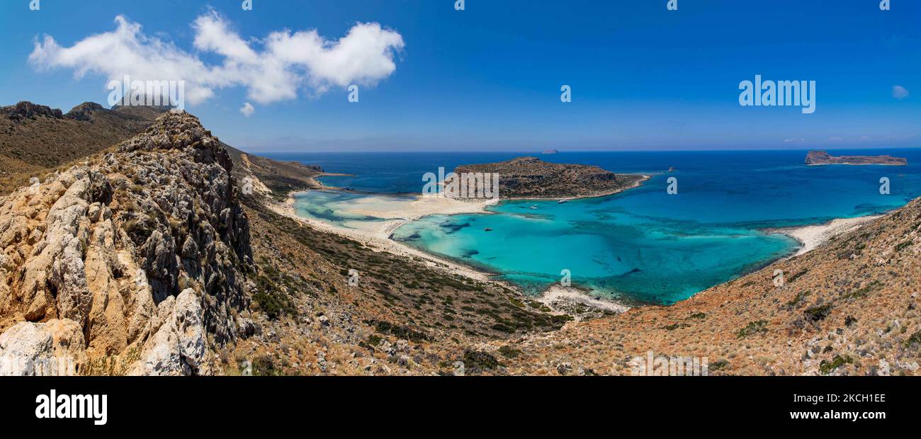
[{"label": "orange-brown scrubby slope rising toward the right edge", "polygon": [[921,199],[674,306],[525,337],[508,371],[630,375],[652,351],[706,357],[710,375],[918,375],[919,282]]}]

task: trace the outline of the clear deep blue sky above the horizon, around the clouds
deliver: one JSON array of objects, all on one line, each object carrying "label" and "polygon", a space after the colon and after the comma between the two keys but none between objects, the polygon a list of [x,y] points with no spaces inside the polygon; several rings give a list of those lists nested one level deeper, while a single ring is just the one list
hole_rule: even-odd
[{"label": "clear deep blue sky above the horizon, around the clouds", "polygon": [[[116,29],[220,65],[196,49],[192,23],[219,17],[255,51],[271,32],[343,38],[356,23],[395,32],[395,70],[349,103],[337,84],[296,98],[253,100],[216,87],[187,105],[228,144],[253,152],[682,150],[921,145],[921,2],[771,0],[543,1],[5,0],[0,104],[105,103],[106,75],[29,63],[33,41],[71,47]],[[97,56],[97,58],[100,58]],[[107,56],[101,56],[107,59]],[[814,80],[816,111],[741,107],[754,75]],[[573,101],[560,101],[569,85]],[[908,96],[893,97],[893,87]],[[239,109],[251,102],[255,113]]]}]

